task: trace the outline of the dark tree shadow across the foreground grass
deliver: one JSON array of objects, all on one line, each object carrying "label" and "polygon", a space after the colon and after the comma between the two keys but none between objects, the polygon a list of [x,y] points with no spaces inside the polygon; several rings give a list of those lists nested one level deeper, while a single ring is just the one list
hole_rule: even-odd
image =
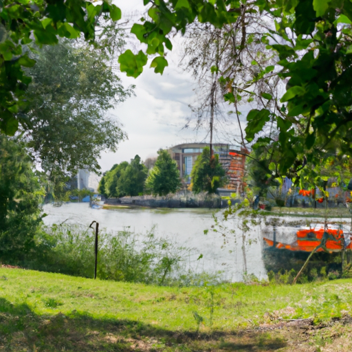
[{"label": "dark tree shadow across the foreground grass", "polygon": [[0,298],[0,351],[276,351],[267,333],[170,331],[142,322],[92,318],[85,312],[35,314]]}]

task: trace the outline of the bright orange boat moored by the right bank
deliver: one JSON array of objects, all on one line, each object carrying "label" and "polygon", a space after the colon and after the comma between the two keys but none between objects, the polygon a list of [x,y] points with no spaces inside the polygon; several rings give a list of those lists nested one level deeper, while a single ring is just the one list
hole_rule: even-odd
[{"label": "bright orange boat moored by the right bank", "polygon": [[352,250],[351,234],[344,234],[343,230],[333,230],[320,228],[319,230],[298,230],[297,239],[294,243],[286,244],[274,240],[263,238],[271,247],[278,250],[292,250],[301,252],[312,252],[317,247],[316,252],[341,252],[342,250]]}]

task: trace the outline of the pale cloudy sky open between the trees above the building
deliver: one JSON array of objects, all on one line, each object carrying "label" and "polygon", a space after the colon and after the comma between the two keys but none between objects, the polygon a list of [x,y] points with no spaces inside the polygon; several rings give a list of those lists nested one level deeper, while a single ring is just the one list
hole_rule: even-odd
[{"label": "pale cloudy sky open between the trees above the building", "polygon": [[[142,0],[113,2],[122,10],[122,19],[126,15],[133,16],[135,20],[142,17]],[[197,84],[195,78],[179,67],[181,41],[180,37],[173,40],[174,48],[167,53],[168,67],[163,75],[155,74],[148,65],[138,78],[127,77],[120,72],[124,87],[135,85],[135,96],[118,104],[110,114],[118,119],[128,140],[120,142],[116,153],[102,153],[102,172],[109,170],[113,164],[133,159],[136,154],[145,160],[147,157],[156,157],[159,148],[169,148],[184,142],[208,142],[204,140],[206,130],[183,129],[186,119],[191,115],[188,104],[194,104],[196,100]],[[133,52],[137,51],[133,43],[128,43],[126,48],[130,46]]]}]

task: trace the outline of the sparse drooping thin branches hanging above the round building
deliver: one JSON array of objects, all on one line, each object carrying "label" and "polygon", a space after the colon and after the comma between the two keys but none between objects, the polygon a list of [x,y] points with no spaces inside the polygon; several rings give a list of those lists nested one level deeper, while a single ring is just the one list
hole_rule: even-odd
[{"label": "sparse drooping thin branches hanging above the round building", "polygon": [[[214,130],[218,135],[225,135],[226,140],[233,139],[245,146],[248,142],[241,126],[243,121],[240,121],[241,106],[244,104],[245,109],[248,104],[271,106],[273,100],[262,96],[267,89],[271,96],[278,95],[276,76],[258,77],[265,65],[275,63],[272,52],[261,42],[267,31],[267,19],[249,11],[254,5],[248,3],[246,6],[248,8],[241,10],[241,17],[235,23],[216,28],[195,21],[185,34],[181,65],[197,79],[197,105],[192,107],[193,113],[186,126],[195,123],[198,129],[210,124],[210,144]],[[253,82],[252,87],[241,89],[243,83],[249,81]],[[229,111],[229,105],[234,111]],[[238,131],[235,135],[233,126]]]}]

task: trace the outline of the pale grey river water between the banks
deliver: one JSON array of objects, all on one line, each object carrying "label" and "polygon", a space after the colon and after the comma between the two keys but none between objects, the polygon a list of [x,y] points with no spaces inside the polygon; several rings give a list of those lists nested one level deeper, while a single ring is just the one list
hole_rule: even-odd
[{"label": "pale grey river water between the banks", "polygon": [[[242,281],[245,272],[258,278],[266,277],[262,259],[261,226],[252,225],[251,230],[245,232],[243,241],[243,231],[239,229],[241,222],[238,218],[234,217],[230,221],[219,220],[219,225],[215,224],[213,214],[220,219],[221,210],[203,208],[95,210],[87,203],[67,203],[61,207],[46,204],[43,210],[47,214],[43,219],[45,225],[65,221],[88,227],[91,221],[95,220],[99,223],[100,229],[104,228],[108,232],[129,227],[129,230],[137,233],[145,233],[155,226],[157,236],[167,237],[181,246],[192,248],[192,254],[187,261],[195,272],[210,274],[221,272],[221,278],[232,282]],[[208,234],[204,234],[204,230],[208,230]],[[203,257],[197,260],[200,254],[203,254]]]}]

